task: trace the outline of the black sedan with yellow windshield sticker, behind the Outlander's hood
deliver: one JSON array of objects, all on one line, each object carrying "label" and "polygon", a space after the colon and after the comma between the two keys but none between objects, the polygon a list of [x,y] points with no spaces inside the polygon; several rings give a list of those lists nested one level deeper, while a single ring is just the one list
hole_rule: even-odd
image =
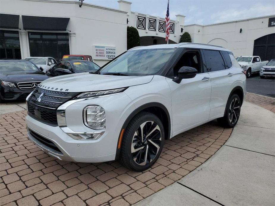
[{"label": "black sedan with yellow windshield sticker, behind the Outlander's hood", "polygon": [[56,77],[81,72],[95,72],[99,66],[92,61],[66,60],[58,62],[53,68],[48,70],[48,75]]}]

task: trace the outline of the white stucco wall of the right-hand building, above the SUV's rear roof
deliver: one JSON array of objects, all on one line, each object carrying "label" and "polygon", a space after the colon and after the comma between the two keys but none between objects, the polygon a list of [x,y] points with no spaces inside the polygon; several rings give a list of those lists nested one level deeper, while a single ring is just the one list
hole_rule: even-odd
[{"label": "white stucco wall of the right-hand building, above the SUV's rear roof", "polygon": [[235,56],[252,55],[255,39],[275,33],[275,27],[268,27],[270,17],[274,15],[205,26],[186,25],[184,32],[189,32],[192,42],[223,46]]}]

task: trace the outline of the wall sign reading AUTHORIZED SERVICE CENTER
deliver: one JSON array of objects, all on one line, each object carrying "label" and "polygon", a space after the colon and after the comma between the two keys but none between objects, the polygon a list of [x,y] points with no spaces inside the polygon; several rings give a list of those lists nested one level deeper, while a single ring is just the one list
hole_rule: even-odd
[{"label": "wall sign reading AUTHORIZED SERVICE CENTER", "polygon": [[116,47],[93,46],[93,59],[111,60],[117,56]]}]

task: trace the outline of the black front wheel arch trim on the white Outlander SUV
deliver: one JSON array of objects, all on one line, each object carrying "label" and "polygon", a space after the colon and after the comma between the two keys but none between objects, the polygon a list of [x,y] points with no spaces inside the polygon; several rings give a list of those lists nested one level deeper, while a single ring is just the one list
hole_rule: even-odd
[{"label": "black front wheel arch trim on the white Outlander SUV", "polygon": [[170,115],[169,115],[169,112],[166,109],[166,107],[159,102],[150,102],[150,103],[144,104],[144,105],[136,108],[123,123],[122,128],[120,130],[120,135],[117,140],[117,151],[116,151],[116,158],[115,158],[116,160],[119,159],[119,156],[120,156],[120,144],[122,142],[124,131],[125,131],[128,123],[131,121],[131,119],[133,119],[133,117],[135,115],[137,115],[140,112],[144,112],[144,111],[153,113],[156,116],[158,116],[158,118],[160,118],[160,120],[162,121],[163,126],[164,126],[164,138],[165,138],[165,140],[169,139],[170,132],[171,132],[171,119],[170,119]]}]

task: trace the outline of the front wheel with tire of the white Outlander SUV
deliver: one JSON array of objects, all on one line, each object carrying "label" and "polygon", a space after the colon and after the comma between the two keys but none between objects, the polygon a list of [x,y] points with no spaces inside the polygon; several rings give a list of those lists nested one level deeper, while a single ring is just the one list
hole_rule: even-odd
[{"label": "front wheel with tire of the white Outlander SUV", "polygon": [[137,114],[125,129],[120,162],[128,169],[143,171],[151,167],[164,145],[164,127],[161,120],[149,112]]}]

